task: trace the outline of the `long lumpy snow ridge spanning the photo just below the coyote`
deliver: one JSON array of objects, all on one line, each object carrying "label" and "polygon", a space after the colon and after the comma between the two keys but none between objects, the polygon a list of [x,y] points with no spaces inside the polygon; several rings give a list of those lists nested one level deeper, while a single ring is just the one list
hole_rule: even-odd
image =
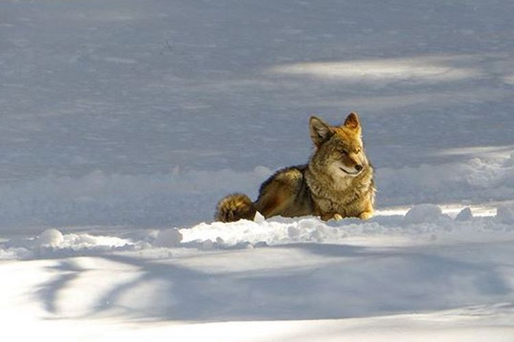
[{"label": "long lumpy snow ridge spanning the photo just below the coyote", "polygon": [[[437,205],[411,208],[406,215],[378,215],[368,221],[345,219],[323,222],[319,218],[270,218],[257,213],[254,221],[200,223],[187,228],[127,230],[133,237],[62,233],[50,228],[36,237],[0,243],[1,259],[91,255],[99,252],[194,248],[227,250],[284,244],[447,244],[514,238],[514,206],[501,205],[495,216],[474,217],[469,207],[452,218]],[[120,231],[118,231],[120,233]]]}]

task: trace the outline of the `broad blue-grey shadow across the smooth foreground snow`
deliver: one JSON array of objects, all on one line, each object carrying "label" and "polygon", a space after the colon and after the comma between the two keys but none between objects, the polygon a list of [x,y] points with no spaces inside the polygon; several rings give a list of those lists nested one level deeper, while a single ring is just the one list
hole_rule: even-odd
[{"label": "broad blue-grey shadow across the smooth foreground snow", "polygon": [[[136,267],[140,276],[101,295],[87,317],[121,310],[145,320],[335,319],[442,310],[491,298],[506,300],[513,293],[494,265],[354,246],[276,248],[294,249],[306,258],[323,257],[323,262],[210,272],[136,257],[103,256]],[[66,274],[39,292],[50,312],[56,311],[56,293],[80,271],[69,263],[62,263],[60,269]]]}]

